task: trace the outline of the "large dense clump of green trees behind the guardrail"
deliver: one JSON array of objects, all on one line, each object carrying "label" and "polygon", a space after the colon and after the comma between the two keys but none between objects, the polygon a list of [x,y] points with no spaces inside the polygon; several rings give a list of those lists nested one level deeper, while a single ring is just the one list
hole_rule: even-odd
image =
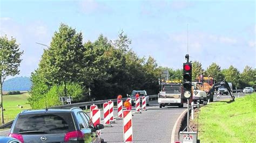
[{"label": "large dense clump of green trees behind the guardrail", "polygon": [[83,44],[82,32],[61,24],[31,74],[31,107],[42,108],[44,100],[50,105],[61,104],[59,96],[84,102],[116,98],[132,90],[156,94],[160,72],[156,60],[140,58],[130,44],[123,31],[113,41],[100,34],[95,41]]}]

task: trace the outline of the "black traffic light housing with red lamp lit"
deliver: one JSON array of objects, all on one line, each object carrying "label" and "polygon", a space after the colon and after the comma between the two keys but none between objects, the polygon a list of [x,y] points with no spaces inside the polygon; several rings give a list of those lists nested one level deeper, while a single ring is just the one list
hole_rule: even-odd
[{"label": "black traffic light housing with red lamp lit", "polygon": [[183,63],[183,91],[185,98],[192,97],[192,63],[186,62]]}]

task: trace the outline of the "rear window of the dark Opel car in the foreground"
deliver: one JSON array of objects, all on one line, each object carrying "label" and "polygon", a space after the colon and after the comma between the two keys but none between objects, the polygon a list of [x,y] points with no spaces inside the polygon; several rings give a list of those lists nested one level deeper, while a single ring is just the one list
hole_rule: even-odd
[{"label": "rear window of the dark Opel car in the foreground", "polygon": [[75,131],[71,113],[21,115],[14,127],[17,134],[55,134]]}]

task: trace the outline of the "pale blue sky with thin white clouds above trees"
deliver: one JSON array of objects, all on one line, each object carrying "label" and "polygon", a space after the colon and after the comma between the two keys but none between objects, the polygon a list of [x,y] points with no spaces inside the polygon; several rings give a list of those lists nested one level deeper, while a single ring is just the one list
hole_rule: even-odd
[{"label": "pale blue sky with thin white clouds above trees", "polygon": [[182,68],[188,47],[190,60],[204,69],[216,62],[242,72],[256,68],[255,7],[255,1],[0,0],[0,34],[16,38],[24,51],[18,76],[38,68],[46,47],[36,42],[50,45],[60,23],[82,32],[84,42],[99,34],[114,40],[123,30],[133,51],[159,66]]}]

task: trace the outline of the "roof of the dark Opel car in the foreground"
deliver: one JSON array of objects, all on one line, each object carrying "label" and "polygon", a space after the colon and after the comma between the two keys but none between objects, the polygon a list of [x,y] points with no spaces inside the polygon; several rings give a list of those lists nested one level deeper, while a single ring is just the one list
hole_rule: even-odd
[{"label": "roof of the dark Opel car in the foreground", "polygon": [[41,109],[41,110],[23,110],[20,115],[29,115],[37,113],[71,113],[72,110],[82,110],[80,108],[71,108],[71,109]]}]

